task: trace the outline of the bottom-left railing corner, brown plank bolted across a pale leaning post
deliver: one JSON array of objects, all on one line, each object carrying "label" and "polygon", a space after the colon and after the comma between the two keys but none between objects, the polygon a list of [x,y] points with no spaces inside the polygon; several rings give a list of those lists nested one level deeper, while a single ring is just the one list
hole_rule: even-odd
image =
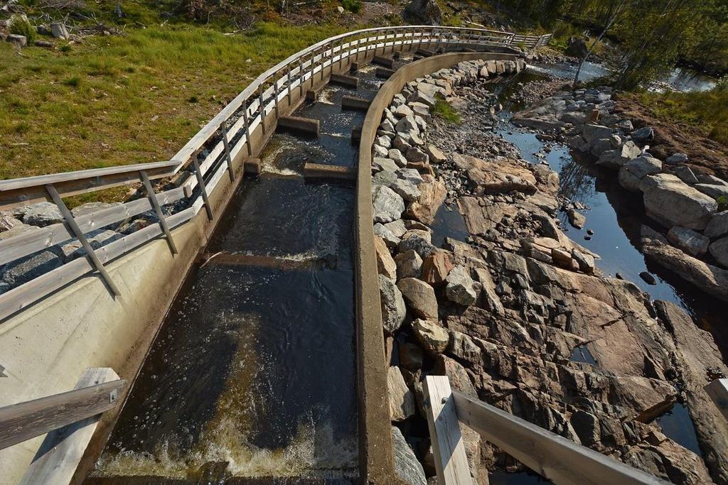
[{"label": "bottom-left railing corner, brown plank bolted across a pale leaning post", "polygon": [[74,390],[0,408],[0,449],[46,434],[20,484],[68,484],[100,415],[126,388],[113,369],[87,369]]}]

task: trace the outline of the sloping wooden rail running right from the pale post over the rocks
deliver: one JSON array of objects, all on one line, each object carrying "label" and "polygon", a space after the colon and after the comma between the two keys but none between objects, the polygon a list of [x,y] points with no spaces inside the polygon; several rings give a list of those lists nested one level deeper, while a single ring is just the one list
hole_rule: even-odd
[{"label": "sloping wooden rail running right from the pale post over the rocks", "polygon": [[557,484],[668,483],[462,393],[453,401],[460,422]]}]

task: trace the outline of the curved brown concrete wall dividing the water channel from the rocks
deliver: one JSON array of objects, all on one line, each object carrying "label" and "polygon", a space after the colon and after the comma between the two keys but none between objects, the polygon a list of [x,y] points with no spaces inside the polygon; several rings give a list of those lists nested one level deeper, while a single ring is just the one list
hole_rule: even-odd
[{"label": "curved brown concrete wall dividing the water channel from the rocks", "polygon": [[514,53],[454,52],[416,60],[398,69],[379,89],[367,111],[357,166],[355,257],[357,305],[357,389],[359,393],[360,483],[396,483],[392,448],[387,362],[379,300],[379,272],[374,249],[371,208],[371,147],[392,98],[408,81],[465,60],[515,60]]}]

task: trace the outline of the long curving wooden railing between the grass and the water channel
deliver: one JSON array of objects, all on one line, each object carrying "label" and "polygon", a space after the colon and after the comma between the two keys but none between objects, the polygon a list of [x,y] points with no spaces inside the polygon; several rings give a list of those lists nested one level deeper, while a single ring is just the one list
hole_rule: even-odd
[{"label": "long curving wooden railing between the grass and the water channel", "polygon": [[[261,146],[253,146],[253,135],[257,135],[259,140],[266,140],[276,127],[280,111],[292,108],[291,93],[298,89],[301,91],[299,95],[302,94],[304,84],[312,83],[317,76],[323,81],[325,73],[328,75],[337,68],[342,70],[352,62],[367,62],[372,55],[387,50],[437,49],[448,52],[494,46],[528,48],[547,43],[549,39],[550,36],[520,36],[486,29],[429,25],[370,28],[345,33],[314,44],[262,73],[170,161],[0,181],[0,211],[50,200],[58,205],[64,218],[63,223],[0,240],[0,265],[71,239],[80,241],[87,254],[0,294],[0,321],[89,273],[98,272],[108,289],[119,294],[104,266],[159,236],[166,237],[174,254],[176,248],[171,229],[191,220],[203,207],[207,217],[213,218],[208,196],[226,172],[235,181],[232,161],[253,156],[254,151],[260,150]],[[170,184],[173,188],[169,190],[154,193],[150,180],[162,177],[173,177],[175,184]],[[74,217],[63,204],[62,198],[66,196],[132,183],[143,185],[146,198],[79,217]],[[182,204],[180,201],[185,202]],[[162,207],[173,203],[181,204],[183,208],[173,215],[165,215]],[[84,236],[150,210],[156,213],[159,223],[98,249],[93,248]]]}]

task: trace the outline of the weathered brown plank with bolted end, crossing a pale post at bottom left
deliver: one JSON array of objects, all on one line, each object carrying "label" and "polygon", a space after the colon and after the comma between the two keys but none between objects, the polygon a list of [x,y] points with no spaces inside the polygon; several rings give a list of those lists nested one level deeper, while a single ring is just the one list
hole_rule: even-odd
[{"label": "weathered brown plank with bolted end, crossing a pale post at bottom left", "polygon": [[126,385],[113,380],[0,408],[0,449],[108,411]]}]

